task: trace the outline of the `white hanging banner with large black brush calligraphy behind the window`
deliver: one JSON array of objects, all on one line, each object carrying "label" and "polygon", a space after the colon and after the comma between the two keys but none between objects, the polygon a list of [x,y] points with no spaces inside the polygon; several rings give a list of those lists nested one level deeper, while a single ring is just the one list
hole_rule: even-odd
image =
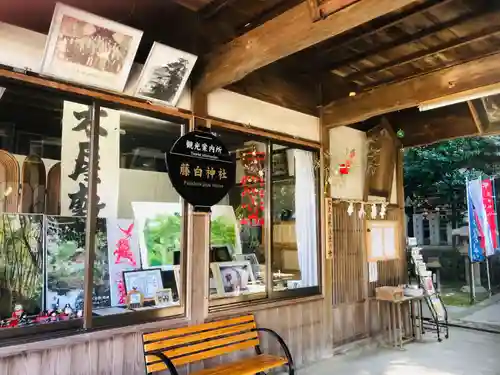
[{"label": "white hanging banner with large black brush calligraphy behind the window", "polygon": [[[92,107],[64,102],[61,149],[61,215],[87,214]],[[116,217],[120,176],[120,113],[102,108],[99,124],[97,213]]]}]

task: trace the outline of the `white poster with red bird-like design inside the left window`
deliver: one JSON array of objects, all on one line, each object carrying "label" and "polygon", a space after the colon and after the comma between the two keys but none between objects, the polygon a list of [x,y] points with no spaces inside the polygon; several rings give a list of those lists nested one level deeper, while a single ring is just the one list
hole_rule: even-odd
[{"label": "white poster with red bird-like design inside the left window", "polygon": [[137,228],[130,219],[107,219],[111,306],[127,303],[123,271],[141,267]]}]

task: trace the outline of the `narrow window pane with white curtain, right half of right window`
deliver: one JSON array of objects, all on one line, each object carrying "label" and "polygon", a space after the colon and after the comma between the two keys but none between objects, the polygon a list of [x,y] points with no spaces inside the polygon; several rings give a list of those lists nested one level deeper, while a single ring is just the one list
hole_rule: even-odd
[{"label": "narrow window pane with white curtain, right half of right window", "polygon": [[273,144],[271,269],[273,291],[319,286],[317,154]]}]

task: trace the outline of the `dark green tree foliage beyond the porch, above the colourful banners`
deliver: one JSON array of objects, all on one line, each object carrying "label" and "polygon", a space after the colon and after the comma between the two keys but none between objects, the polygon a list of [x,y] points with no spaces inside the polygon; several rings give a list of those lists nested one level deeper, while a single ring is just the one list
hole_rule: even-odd
[{"label": "dark green tree foliage beyond the porch, above the colourful banners", "polygon": [[405,151],[405,196],[415,206],[429,198],[447,205],[454,228],[466,209],[465,182],[500,170],[500,137],[473,137],[444,141]]}]

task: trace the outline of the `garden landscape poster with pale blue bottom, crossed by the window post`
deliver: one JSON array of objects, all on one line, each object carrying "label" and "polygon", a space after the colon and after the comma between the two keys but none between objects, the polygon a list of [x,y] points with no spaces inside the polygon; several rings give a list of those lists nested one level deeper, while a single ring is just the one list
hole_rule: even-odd
[{"label": "garden landscape poster with pale blue bottom, crossed by the window post", "polygon": [[[83,309],[85,218],[45,216],[47,248],[46,307]],[[97,220],[95,239],[94,308],[111,307],[106,222]]]}]

